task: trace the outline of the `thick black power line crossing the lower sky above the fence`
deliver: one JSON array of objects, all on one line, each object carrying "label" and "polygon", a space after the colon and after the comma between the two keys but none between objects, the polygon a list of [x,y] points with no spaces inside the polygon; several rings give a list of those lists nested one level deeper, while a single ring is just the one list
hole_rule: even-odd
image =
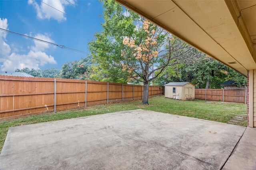
[{"label": "thick black power line crossing the lower sky above the fence", "polygon": [[76,51],[76,52],[79,52],[79,53],[83,53],[83,54],[90,55],[90,54],[88,54],[88,53],[86,53],[86,52],[84,52],[84,51],[80,51],[80,50],[77,50],[77,49],[73,49],[73,48],[70,48],[70,47],[66,47],[65,45],[58,45],[58,44],[55,44],[55,43],[52,43],[52,42],[49,42],[49,41],[45,41],[45,40],[42,40],[42,39],[30,37],[30,36],[28,36],[28,35],[20,34],[20,33],[17,33],[17,32],[14,32],[14,31],[10,31],[10,30],[7,30],[7,29],[3,29],[3,28],[0,28],[0,30],[1,30],[1,31],[5,31],[5,32],[8,32],[8,33],[15,34],[15,35],[19,35],[19,36],[21,36],[21,37],[25,37],[25,38],[33,39],[33,40],[36,40],[36,41],[40,41],[40,42],[42,42],[42,43],[54,45],[54,46],[60,47],[60,48],[62,48],[62,49],[68,49],[68,50],[72,50],[72,51]]}]

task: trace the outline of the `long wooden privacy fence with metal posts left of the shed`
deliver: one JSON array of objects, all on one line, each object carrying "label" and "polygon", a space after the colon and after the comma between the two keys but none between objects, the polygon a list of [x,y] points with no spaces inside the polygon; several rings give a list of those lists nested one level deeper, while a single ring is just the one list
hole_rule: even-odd
[{"label": "long wooden privacy fence with metal posts left of the shed", "polygon": [[[61,78],[0,75],[0,120],[141,99],[143,86]],[[163,94],[150,86],[149,96]]]}]

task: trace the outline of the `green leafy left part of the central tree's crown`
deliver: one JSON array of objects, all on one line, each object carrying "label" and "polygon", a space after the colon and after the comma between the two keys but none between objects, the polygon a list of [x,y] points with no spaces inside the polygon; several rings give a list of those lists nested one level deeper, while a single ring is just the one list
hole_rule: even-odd
[{"label": "green leafy left part of the central tree's crown", "polygon": [[105,22],[102,23],[103,31],[94,34],[95,40],[89,43],[89,50],[92,53],[93,74],[90,78],[98,81],[109,81],[127,83],[128,72],[113,66],[112,62],[120,60],[123,37],[130,37],[133,34],[136,25],[134,19],[139,16],[124,10],[122,6],[112,0],[103,2],[103,17]]}]

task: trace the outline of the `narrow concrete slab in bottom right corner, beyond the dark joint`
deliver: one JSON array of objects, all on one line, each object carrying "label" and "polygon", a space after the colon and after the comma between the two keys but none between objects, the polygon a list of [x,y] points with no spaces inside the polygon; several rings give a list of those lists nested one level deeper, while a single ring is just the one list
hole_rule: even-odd
[{"label": "narrow concrete slab in bottom right corner, beyond the dark joint", "polygon": [[246,128],[223,170],[256,170],[256,128]]}]

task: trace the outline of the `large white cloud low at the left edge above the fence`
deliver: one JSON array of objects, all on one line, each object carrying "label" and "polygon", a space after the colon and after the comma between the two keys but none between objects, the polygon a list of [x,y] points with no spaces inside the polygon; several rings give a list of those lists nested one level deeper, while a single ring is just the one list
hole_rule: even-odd
[{"label": "large white cloud low at the left edge above the fence", "polygon": [[[8,29],[7,19],[0,18],[0,25],[4,29]],[[44,50],[49,48],[48,44],[43,44],[42,42],[34,41],[34,46],[30,47],[30,51],[27,54],[18,54],[18,51],[23,51],[22,47],[19,49],[11,49],[6,43],[6,32],[0,31],[0,66],[1,71],[13,72],[16,68],[34,68],[38,69],[39,66],[44,66],[45,64],[56,64],[54,57],[47,55]],[[47,34],[37,34],[34,37],[50,42],[54,42],[50,39]],[[15,45],[12,45],[15,47]],[[11,53],[11,51],[14,51]],[[11,53],[11,54],[10,54]]]}]

